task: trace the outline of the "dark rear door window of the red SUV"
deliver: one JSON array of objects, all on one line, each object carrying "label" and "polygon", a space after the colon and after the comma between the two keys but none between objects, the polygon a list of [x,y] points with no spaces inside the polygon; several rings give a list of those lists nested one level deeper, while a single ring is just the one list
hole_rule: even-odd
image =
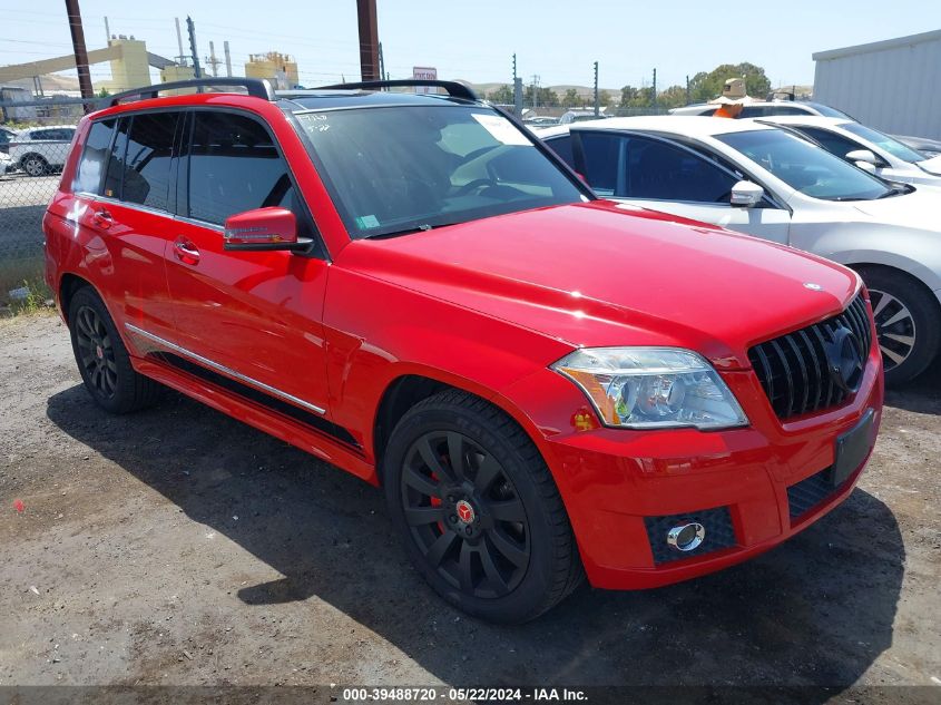
[{"label": "dark rear door window of the red SUV", "polygon": [[136,115],[125,157],[121,199],[168,210],[176,114]]}]

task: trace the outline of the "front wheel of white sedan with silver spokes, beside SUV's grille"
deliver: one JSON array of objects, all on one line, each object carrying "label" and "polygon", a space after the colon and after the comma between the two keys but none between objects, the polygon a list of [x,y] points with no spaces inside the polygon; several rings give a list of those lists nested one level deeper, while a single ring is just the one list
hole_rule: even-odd
[{"label": "front wheel of white sedan with silver spokes, beside SUV's grille", "polygon": [[909,382],[941,347],[941,307],[921,282],[888,267],[860,267],[875,314],[885,383]]}]

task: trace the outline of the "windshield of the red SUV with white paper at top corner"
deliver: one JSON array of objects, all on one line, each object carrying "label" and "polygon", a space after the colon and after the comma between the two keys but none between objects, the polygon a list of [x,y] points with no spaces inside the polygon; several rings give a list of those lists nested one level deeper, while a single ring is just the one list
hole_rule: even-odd
[{"label": "windshield of the red SUV with white paper at top corner", "polygon": [[351,237],[585,200],[503,116],[453,105],[296,114]]}]

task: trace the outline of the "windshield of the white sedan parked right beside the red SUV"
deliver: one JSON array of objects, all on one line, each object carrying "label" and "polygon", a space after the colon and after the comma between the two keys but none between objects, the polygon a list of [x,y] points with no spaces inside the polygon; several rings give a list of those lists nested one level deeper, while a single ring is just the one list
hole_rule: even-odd
[{"label": "windshield of the white sedan parked right beside the red SUV", "polygon": [[731,133],[716,139],[813,198],[872,200],[895,193],[881,179],[784,130]]}]

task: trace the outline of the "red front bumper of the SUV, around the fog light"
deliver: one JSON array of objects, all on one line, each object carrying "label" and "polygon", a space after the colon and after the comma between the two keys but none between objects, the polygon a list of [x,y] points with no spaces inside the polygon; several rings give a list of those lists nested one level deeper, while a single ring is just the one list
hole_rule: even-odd
[{"label": "red front bumper of the SUV, around the fog light", "polygon": [[[723,379],[752,425],[727,431],[597,428],[571,382],[546,371],[506,395],[530,417],[562,495],[588,579],[609,589],[649,588],[725,568],[766,551],[852,492],[882,417],[883,382],[873,345],[860,390],[837,409],[781,422],[751,370]],[[572,391],[575,394],[572,394]],[[872,410],[866,460],[835,488],[823,480],[835,440]],[[586,419],[595,419],[595,428]],[[669,526],[706,526],[688,554],[666,545]]]}]

